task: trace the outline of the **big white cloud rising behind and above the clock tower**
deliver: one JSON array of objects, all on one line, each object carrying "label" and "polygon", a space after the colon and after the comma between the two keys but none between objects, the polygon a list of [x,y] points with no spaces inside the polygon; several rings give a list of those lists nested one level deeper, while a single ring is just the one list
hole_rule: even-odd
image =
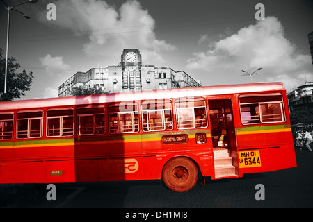
[{"label": "big white cloud rising behind and above the clock tower", "polygon": [[[119,51],[138,48],[151,56],[175,49],[157,39],[154,19],[136,0],[126,1],[120,8],[99,0],[58,0],[54,4],[56,21],[47,22],[46,10],[39,12],[39,18],[47,25],[70,30],[77,36],[88,36],[83,44],[88,56],[104,56],[116,48]],[[162,61],[163,58],[153,56],[150,60]]]}]

